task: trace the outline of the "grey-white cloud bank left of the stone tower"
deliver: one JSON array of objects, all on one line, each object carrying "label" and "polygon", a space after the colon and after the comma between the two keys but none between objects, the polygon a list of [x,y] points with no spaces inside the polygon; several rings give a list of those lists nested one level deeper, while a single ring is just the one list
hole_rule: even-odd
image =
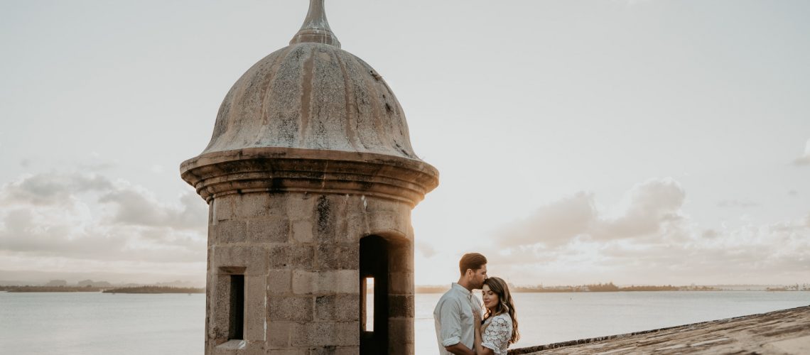
[{"label": "grey-white cloud bank left of the stone tower", "polygon": [[164,202],[126,180],[51,171],[2,185],[0,205],[0,255],[110,265],[205,262],[207,206],[192,192]]}]

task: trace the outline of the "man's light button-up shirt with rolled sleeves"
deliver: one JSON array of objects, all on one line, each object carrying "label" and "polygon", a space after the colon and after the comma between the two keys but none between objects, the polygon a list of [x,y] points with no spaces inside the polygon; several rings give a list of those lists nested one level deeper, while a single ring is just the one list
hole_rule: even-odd
[{"label": "man's light button-up shirt with rolled sleeves", "polygon": [[472,312],[480,315],[481,301],[464,286],[454,282],[450,285],[450,290],[439,298],[436,309],[433,310],[440,355],[449,355],[445,346],[458,343],[473,349],[475,318]]}]

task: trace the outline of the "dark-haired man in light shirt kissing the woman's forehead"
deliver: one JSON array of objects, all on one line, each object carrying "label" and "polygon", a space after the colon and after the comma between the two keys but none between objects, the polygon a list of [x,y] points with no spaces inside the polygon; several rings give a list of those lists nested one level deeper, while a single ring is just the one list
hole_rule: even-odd
[{"label": "dark-haired man in light shirt kissing the woman's forehead", "polygon": [[475,354],[473,341],[475,328],[473,312],[479,314],[481,301],[472,294],[480,289],[487,278],[487,258],[477,252],[464,254],[458,261],[461,277],[439,299],[433,310],[439,354]]}]

